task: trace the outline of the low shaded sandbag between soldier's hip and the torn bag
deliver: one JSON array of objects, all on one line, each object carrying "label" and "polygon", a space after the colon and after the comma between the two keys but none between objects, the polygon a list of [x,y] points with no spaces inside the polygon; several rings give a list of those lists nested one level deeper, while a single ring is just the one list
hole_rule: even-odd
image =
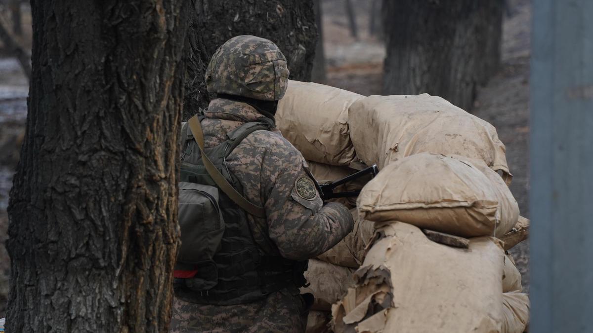
[{"label": "low shaded sandbag between soldier's hip and the torn bag", "polygon": [[310,286],[301,287],[301,293],[311,293],[315,296],[311,309],[329,311],[331,303],[339,300],[348,287],[354,284],[352,280],[354,271],[352,268],[310,259],[309,268],[305,272],[305,278]]}]

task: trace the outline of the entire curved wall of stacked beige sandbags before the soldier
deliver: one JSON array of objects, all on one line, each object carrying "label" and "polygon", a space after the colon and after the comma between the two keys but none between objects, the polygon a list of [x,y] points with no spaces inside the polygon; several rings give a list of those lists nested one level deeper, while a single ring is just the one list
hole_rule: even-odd
[{"label": "entire curved wall of stacked beige sandbags before the soldier", "polygon": [[[276,123],[322,184],[352,174],[357,162],[380,167],[368,184],[337,189],[364,187],[356,202],[336,199],[357,206],[353,231],[310,261],[302,292],[317,300],[308,332],[327,331],[332,302],[336,332],[528,326],[528,296],[504,250],[527,238],[529,221],[518,216],[492,125],[428,94],[363,97],[297,81]],[[462,237],[467,248],[425,236],[434,232]]]}]

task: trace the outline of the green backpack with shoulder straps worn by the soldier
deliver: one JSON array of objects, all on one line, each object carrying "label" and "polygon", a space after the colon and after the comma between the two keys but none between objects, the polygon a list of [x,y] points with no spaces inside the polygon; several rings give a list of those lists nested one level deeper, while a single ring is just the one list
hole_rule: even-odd
[{"label": "green backpack with shoulder straps worn by the soldier", "polygon": [[[193,290],[211,290],[219,282],[218,268],[213,258],[221,248],[225,233],[223,210],[244,210],[257,217],[266,217],[263,207],[250,203],[231,185],[229,180],[232,181],[232,177],[224,167],[224,159],[250,133],[260,129],[269,130],[270,127],[256,122],[243,124],[228,133],[227,142],[209,149],[206,154],[199,118],[192,117],[187,126],[187,136],[192,134],[201,160],[200,163],[191,163],[182,158],[181,162],[178,213],[181,246],[174,277],[186,279],[184,282],[190,284]],[[188,148],[190,146],[195,148],[196,145],[189,145]],[[184,156],[190,154],[185,152]],[[221,200],[226,200],[224,207],[221,207]]]}]

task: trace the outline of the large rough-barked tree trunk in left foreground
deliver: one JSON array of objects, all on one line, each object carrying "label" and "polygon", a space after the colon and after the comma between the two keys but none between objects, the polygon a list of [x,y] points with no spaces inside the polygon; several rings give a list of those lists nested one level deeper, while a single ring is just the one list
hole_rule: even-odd
[{"label": "large rough-barked tree trunk in left foreground", "polygon": [[166,332],[189,1],[32,0],[7,332]]}]

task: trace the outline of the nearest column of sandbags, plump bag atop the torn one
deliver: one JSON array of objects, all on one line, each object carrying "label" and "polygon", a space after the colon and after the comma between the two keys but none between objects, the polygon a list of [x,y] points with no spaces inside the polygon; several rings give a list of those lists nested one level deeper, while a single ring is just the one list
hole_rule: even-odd
[{"label": "nearest column of sandbags, plump bag atop the torn one", "polygon": [[[525,329],[521,274],[496,238],[517,223],[517,202],[481,160],[418,153],[391,161],[365,185],[358,210],[377,233],[356,286],[333,306],[336,332]],[[439,244],[424,230],[468,246]]]}]

